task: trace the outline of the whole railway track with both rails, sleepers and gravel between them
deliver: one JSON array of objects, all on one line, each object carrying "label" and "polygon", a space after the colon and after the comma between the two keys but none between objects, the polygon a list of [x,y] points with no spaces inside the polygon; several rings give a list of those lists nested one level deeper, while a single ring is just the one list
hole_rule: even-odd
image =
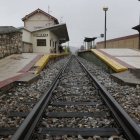
[{"label": "whole railway track with both rails, sleepers and gravel between them", "polygon": [[12,140],[93,138],[139,140],[140,129],[73,56]]}]

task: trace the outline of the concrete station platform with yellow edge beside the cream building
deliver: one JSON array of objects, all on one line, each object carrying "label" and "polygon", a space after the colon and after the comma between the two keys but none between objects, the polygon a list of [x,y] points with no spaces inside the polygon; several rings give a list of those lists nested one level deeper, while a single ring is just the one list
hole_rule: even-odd
[{"label": "concrete station platform with yellow edge beside the cream building", "polygon": [[22,53],[13,54],[0,60],[0,91],[15,83],[31,83],[47,63],[55,58],[68,55]]}]

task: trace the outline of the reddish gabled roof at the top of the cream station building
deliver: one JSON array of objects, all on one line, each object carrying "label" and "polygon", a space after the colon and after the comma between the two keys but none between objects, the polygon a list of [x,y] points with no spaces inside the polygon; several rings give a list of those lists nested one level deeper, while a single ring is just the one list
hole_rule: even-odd
[{"label": "reddish gabled roof at the top of the cream station building", "polygon": [[50,14],[44,12],[43,10],[41,10],[41,9],[39,9],[39,8],[36,9],[35,11],[33,11],[32,13],[26,15],[24,18],[22,18],[22,21],[25,21],[26,19],[28,19],[29,17],[33,16],[33,15],[36,14],[36,13],[42,13],[42,14],[48,16],[49,18],[53,19],[53,20],[55,21],[56,24],[59,24],[58,20],[57,20],[55,17],[51,16]]}]

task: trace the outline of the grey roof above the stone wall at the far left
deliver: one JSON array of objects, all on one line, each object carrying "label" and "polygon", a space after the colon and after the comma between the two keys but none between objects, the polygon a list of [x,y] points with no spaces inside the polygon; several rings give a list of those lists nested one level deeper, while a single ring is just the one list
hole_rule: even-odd
[{"label": "grey roof above the stone wall at the far left", "polygon": [[19,29],[13,26],[0,26],[0,34],[8,34],[8,33],[14,33],[14,32],[20,32],[20,31]]}]

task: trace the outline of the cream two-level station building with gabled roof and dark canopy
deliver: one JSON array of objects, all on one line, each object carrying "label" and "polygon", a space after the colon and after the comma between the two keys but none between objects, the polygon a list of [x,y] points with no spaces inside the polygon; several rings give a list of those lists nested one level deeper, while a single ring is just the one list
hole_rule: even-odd
[{"label": "cream two-level station building with gabled roof and dark canopy", "polygon": [[66,24],[40,9],[22,20],[23,52],[58,53],[60,44],[69,41]]}]

